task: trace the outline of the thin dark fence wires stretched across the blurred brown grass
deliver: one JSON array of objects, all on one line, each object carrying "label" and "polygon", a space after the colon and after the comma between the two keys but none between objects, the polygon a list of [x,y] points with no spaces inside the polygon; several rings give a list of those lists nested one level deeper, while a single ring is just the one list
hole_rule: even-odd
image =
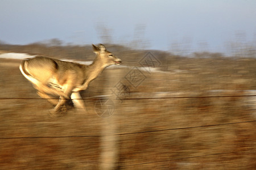
[{"label": "thin dark fence wires stretched across the blurred brown grass", "polygon": [[[138,97],[138,98],[125,98],[125,99],[116,99],[116,100],[148,100],[148,99],[193,99],[193,98],[212,98],[212,97],[255,97],[256,95],[227,95],[227,96],[180,96],[180,97]],[[57,99],[57,98],[52,98]],[[42,98],[34,98],[34,97],[0,97],[0,100],[46,100]],[[95,97],[93,98],[84,98],[79,100],[99,100]],[[146,133],[160,133],[162,131],[172,131],[172,130],[187,130],[187,129],[197,129],[197,128],[211,128],[214,126],[231,126],[237,124],[249,124],[255,123],[256,120],[250,121],[240,121],[240,122],[229,122],[224,124],[211,124],[211,125],[201,125],[201,126],[187,126],[181,128],[171,128],[171,129],[158,129],[158,130],[149,130],[149,131],[134,131],[129,133],[116,133],[112,135],[136,135],[136,134],[146,134]],[[102,135],[67,135],[67,136],[32,136],[32,137],[0,137],[0,140],[10,140],[10,139],[52,139],[52,138],[101,138]],[[214,154],[207,155],[199,155],[199,156],[185,156],[183,158],[177,159],[168,159],[168,160],[158,160],[155,162],[144,162],[144,163],[136,163],[136,164],[124,164],[119,165],[119,168],[125,167],[136,167],[139,165],[147,165],[147,164],[158,164],[158,163],[168,163],[185,159],[192,158],[204,158],[207,156],[217,156],[217,155],[226,155],[226,154],[234,154],[233,152],[218,152]]]}]

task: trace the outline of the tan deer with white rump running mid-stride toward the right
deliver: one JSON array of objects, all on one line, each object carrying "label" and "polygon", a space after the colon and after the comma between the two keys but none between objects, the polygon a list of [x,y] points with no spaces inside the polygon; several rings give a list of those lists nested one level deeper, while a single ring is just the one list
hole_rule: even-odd
[{"label": "tan deer with white rump running mid-stride toward the right", "polygon": [[[51,113],[65,109],[67,99],[72,99],[76,108],[85,109],[79,92],[86,90],[106,67],[121,64],[121,59],[106,50],[103,44],[92,46],[96,58],[91,65],[47,57],[24,59],[20,64],[21,73],[34,85],[38,95],[56,105]],[[52,96],[59,96],[59,99]]]}]

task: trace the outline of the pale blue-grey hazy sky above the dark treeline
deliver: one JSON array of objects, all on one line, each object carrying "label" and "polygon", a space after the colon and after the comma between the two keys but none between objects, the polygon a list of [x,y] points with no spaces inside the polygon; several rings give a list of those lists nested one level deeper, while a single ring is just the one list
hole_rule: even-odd
[{"label": "pale blue-grey hazy sky above the dark treeline", "polygon": [[1,0],[0,40],[97,44],[107,28],[115,44],[222,52],[229,41],[256,42],[255,9],[255,0]]}]

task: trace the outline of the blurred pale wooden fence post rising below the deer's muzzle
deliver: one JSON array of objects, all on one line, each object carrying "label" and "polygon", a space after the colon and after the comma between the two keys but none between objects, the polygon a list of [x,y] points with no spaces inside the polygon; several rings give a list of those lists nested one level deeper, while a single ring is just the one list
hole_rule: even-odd
[{"label": "blurred pale wooden fence post rising below the deer's muzzle", "polygon": [[[116,100],[116,96],[112,94],[112,88],[114,88],[115,84],[119,82],[122,78],[122,69],[108,69],[106,71],[106,79],[108,86],[110,87],[106,89],[106,95],[108,95],[105,101],[112,104],[114,107],[117,107],[118,100]],[[111,106],[110,106],[111,107]],[[105,107],[108,109],[108,106]],[[117,125],[117,112],[112,110],[113,108],[109,108],[109,113],[111,114],[109,117],[102,118],[103,125],[101,130],[101,155],[100,155],[100,169],[109,170],[109,169],[117,169],[118,166],[118,125]],[[113,111],[113,113],[111,113]]]}]

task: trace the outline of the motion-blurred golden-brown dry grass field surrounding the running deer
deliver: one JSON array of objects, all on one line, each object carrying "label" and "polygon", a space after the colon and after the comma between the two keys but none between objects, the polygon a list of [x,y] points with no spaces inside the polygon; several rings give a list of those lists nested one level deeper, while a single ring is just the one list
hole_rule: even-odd
[{"label": "motion-blurred golden-brown dry grass field surrounding the running deer", "polygon": [[[246,96],[256,90],[255,58],[186,58],[151,51],[161,63],[159,72],[143,71],[145,79],[135,88],[125,76],[147,51],[106,46],[130,67],[106,69],[82,96],[105,95],[114,88],[108,82],[121,80],[130,91],[125,97],[135,98],[118,101],[112,115],[119,169],[255,169],[255,122],[246,122],[256,120],[255,97]],[[1,45],[0,50],[86,61],[94,57],[90,46]],[[19,63],[0,59],[1,169],[98,169],[98,136],[108,118],[97,115],[97,100],[85,100],[87,113],[71,107],[51,117],[52,106],[36,95]],[[117,70],[121,79],[109,80],[107,75]]]}]

